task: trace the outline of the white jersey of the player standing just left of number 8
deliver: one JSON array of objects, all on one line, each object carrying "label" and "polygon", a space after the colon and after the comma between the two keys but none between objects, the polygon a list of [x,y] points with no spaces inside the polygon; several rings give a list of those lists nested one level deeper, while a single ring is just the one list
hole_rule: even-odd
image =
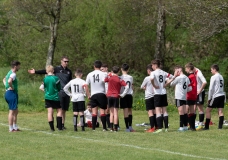
[{"label": "white jersey of the player standing just left of number 8", "polygon": [[141,85],[141,88],[146,88],[145,89],[145,99],[149,99],[151,97],[154,97],[154,87],[151,83],[151,79],[150,76],[147,76],[144,80],[143,83]]}]

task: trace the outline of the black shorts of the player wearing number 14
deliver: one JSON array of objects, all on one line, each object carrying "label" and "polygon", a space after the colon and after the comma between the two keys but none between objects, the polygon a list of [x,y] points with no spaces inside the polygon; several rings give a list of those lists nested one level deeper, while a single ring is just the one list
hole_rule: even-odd
[{"label": "black shorts of the player wearing number 14", "polygon": [[90,98],[91,108],[100,107],[107,109],[107,97],[104,93],[97,93]]}]

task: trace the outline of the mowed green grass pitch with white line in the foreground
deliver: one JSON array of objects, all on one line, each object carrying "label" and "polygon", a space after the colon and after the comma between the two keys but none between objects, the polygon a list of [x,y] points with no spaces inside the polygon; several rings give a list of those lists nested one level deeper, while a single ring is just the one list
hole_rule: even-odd
[{"label": "mowed green grass pitch with white line in the foreground", "polygon": [[7,112],[0,112],[0,159],[228,159],[228,128],[218,130],[213,115],[216,124],[209,131],[179,133],[179,117],[172,112],[169,132],[152,134],[135,126],[148,122],[146,111],[134,111],[134,133],[125,132],[122,111],[116,133],[102,128],[73,132],[70,111],[67,130],[50,132],[46,112],[19,113],[22,131],[9,133]]}]

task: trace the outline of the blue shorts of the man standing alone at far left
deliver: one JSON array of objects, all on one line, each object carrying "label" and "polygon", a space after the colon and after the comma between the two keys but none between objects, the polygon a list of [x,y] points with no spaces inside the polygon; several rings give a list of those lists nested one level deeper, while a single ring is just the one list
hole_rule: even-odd
[{"label": "blue shorts of the man standing alone at far left", "polygon": [[9,110],[16,110],[18,104],[18,94],[13,90],[8,90],[5,93],[5,100],[9,105]]}]

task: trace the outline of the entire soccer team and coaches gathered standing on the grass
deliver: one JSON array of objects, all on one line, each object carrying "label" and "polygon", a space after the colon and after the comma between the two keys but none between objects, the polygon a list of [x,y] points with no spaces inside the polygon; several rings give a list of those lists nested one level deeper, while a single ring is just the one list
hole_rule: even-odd
[{"label": "entire soccer team and coaches gathered standing on the grass", "polygon": [[[128,74],[129,65],[124,63],[121,67],[112,67],[111,72],[107,71],[107,65],[97,60],[94,62],[94,71],[82,79],[82,70],[75,71],[75,78],[72,79],[71,70],[67,68],[69,60],[62,57],[61,66],[46,67],[46,70],[29,70],[30,74],[46,74],[43,85],[40,87],[45,92],[45,108],[48,110],[48,123],[51,131],[54,127],[54,109],[57,110],[56,126],[58,130],[64,130],[65,112],[69,108],[71,99],[73,105],[73,126],[74,131],[78,131],[78,126],[82,131],[90,124],[92,130],[98,127],[98,108],[99,117],[103,131],[117,132],[119,128],[119,108],[123,109],[126,132],[134,132],[132,128],[132,104],[133,104],[133,77]],[[148,76],[142,82],[141,89],[145,90],[145,104],[148,111],[150,129],[146,132],[160,133],[168,132],[169,118],[167,112],[167,86],[175,87],[175,103],[178,108],[180,118],[180,128],[178,131],[187,130],[208,130],[211,121],[211,111],[218,109],[219,125],[222,129],[224,115],[223,108],[225,103],[224,79],[219,74],[219,66],[211,66],[213,76],[210,80],[208,91],[208,106],[206,108],[206,121],[204,125],[204,101],[205,86],[207,84],[202,72],[192,63],[185,65],[186,76],[181,66],[174,67],[174,74],[169,74],[160,68],[160,60],[153,60],[147,66]],[[12,69],[9,71],[3,82],[5,84],[5,99],[9,105],[9,131],[20,131],[17,128],[17,79],[16,72],[20,68],[20,63],[13,62]],[[119,76],[119,72],[122,75]],[[85,97],[89,98],[90,112],[86,110]],[[85,112],[86,110],[86,112]],[[199,112],[199,125],[195,126],[196,110]],[[86,120],[85,113],[91,114],[91,120]],[[80,116],[78,125],[78,116]],[[89,123],[90,122],[90,123]],[[164,126],[163,126],[164,124]],[[204,127],[203,127],[204,126]]]}]

